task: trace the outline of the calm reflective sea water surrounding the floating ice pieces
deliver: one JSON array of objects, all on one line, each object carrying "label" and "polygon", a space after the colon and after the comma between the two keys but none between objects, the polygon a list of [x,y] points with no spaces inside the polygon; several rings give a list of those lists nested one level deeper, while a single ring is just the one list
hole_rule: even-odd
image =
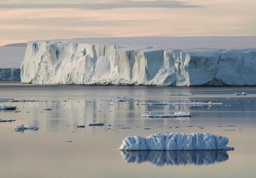
[{"label": "calm reflective sea water surrounding the floating ice pieces", "polygon": [[[168,96],[169,92],[194,95]],[[248,95],[234,96],[234,92]],[[117,95],[152,102],[211,101],[224,105],[148,106],[103,101]],[[39,100],[0,103],[16,105],[20,111],[0,111],[0,119],[16,119],[0,123],[0,177],[3,178],[255,177],[256,86],[41,86],[1,82],[0,98]],[[150,112],[146,108],[162,114],[190,111],[193,117],[143,118],[142,114]],[[104,126],[76,127],[89,122],[104,122]],[[14,131],[19,124],[36,125],[39,130]],[[235,150],[118,150],[127,136],[169,132],[223,135]]]}]

